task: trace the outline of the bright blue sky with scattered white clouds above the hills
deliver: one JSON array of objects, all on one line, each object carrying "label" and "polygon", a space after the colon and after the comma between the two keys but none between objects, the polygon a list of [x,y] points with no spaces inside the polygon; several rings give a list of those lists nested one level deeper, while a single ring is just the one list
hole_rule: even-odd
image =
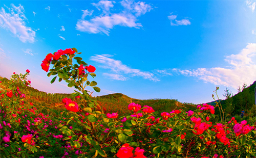
[{"label": "bright blue sky with scattered white clouds above the hills", "polygon": [[[75,47],[96,67],[101,92],[137,99],[213,101],[256,80],[255,1],[1,1],[0,75],[29,69],[32,87],[50,84],[50,52]],[[89,78],[89,81],[92,81]],[[93,89],[88,89],[93,91]]]}]

